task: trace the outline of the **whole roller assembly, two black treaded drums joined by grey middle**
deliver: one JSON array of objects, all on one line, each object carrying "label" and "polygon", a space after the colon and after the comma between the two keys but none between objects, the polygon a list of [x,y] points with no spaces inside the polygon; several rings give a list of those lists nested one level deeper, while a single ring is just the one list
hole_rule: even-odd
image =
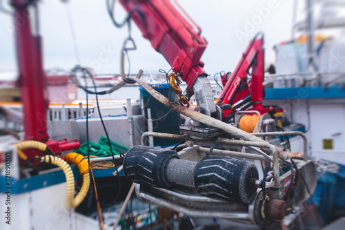
[{"label": "whole roller assembly, two black treaded drums joined by grey middle", "polygon": [[124,157],[124,173],[131,182],[168,189],[175,183],[194,186],[200,195],[249,203],[259,173],[253,162],[208,155],[199,162],[179,159],[175,151],[134,146]]}]

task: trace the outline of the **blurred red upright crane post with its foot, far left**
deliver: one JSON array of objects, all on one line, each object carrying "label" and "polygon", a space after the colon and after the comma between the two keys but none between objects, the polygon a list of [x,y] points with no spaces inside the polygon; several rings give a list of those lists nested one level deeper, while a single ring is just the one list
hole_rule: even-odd
[{"label": "blurred red upright crane post with its foot, far left", "polygon": [[[45,142],[53,152],[79,148],[77,140],[49,140],[47,133],[46,76],[43,71],[41,37],[33,36],[30,28],[28,1],[12,0],[14,8],[15,40],[19,68],[19,86],[23,104],[25,140]],[[40,155],[28,151],[28,157]]]}]

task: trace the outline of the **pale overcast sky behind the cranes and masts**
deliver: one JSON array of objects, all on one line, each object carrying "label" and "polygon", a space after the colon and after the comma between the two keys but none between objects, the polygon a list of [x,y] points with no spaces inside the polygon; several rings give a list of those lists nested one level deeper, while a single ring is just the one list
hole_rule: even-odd
[{"label": "pale overcast sky behind the cranes and masts", "polygon": [[[291,38],[293,0],[180,0],[179,3],[199,24],[203,30],[202,35],[208,40],[202,60],[210,75],[221,70],[232,71],[250,38],[259,30],[265,33],[266,63],[275,59],[273,46]],[[3,5],[10,9],[5,3]],[[81,65],[92,66],[95,60],[99,64],[99,53],[108,47],[115,52],[111,52],[110,59],[101,62],[97,73],[119,73],[119,51],[128,30],[112,25],[106,11],[106,1],[70,0],[68,8],[72,15]],[[124,16],[124,9],[117,2],[117,21],[121,21]],[[248,21],[255,21],[256,25],[248,27]],[[17,68],[11,23],[9,15],[0,13],[2,71]],[[42,0],[40,27],[45,68],[73,68],[77,64],[77,58],[66,4],[58,0]],[[136,26],[132,27],[137,50],[130,52],[131,72],[136,73],[140,68],[146,73],[148,70],[155,72],[159,68],[169,70],[170,66],[164,57],[141,36]],[[242,35],[242,39],[239,39],[239,35]]]}]

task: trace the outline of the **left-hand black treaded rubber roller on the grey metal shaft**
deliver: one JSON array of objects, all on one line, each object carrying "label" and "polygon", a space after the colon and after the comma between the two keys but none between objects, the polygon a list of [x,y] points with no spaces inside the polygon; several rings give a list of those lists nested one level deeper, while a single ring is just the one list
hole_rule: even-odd
[{"label": "left-hand black treaded rubber roller on the grey metal shaft", "polygon": [[179,155],[169,149],[134,146],[124,157],[124,173],[131,182],[168,188],[174,183],[166,178],[166,167],[174,158]]}]

